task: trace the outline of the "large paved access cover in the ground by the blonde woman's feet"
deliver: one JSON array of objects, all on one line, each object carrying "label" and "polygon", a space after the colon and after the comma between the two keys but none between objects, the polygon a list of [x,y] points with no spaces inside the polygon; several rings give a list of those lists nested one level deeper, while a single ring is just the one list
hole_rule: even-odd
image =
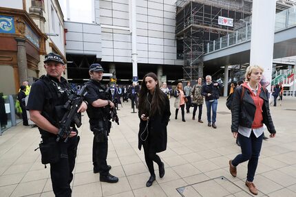
[{"label": "large paved access cover in the ground by the blonde woman's feet", "polygon": [[212,178],[200,183],[178,187],[177,191],[183,197],[223,197],[223,196],[252,196],[244,189],[235,185],[224,176]]}]

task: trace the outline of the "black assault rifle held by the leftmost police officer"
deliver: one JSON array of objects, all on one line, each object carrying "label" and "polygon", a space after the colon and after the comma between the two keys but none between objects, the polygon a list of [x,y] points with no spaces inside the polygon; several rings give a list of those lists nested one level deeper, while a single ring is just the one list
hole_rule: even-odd
[{"label": "black assault rifle held by the leftmost police officer", "polygon": [[71,133],[71,123],[74,121],[77,127],[81,126],[81,114],[77,113],[78,108],[81,106],[83,102],[83,97],[87,94],[86,86],[81,88],[81,91],[76,95],[72,94],[69,96],[69,100],[64,105],[65,110],[67,111],[65,115],[63,115],[63,119],[59,121],[59,132],[56,141],[60,141],[60,139],[65,137],[65,142],[67,142],[68,137]]}]

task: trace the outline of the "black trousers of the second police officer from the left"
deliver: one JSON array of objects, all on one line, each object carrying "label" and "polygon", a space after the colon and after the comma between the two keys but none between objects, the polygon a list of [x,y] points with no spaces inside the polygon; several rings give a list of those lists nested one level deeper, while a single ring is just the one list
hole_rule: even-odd
[{"label": "black trousers of the second police officer from the left", "polygon": [[109,167],[107,165],[107,154],[108,154],[108,139],[104,142],[96,142],[92,143],[92,163],[94,165],[94,169],[98,170],[101,175],[109,174]]}]

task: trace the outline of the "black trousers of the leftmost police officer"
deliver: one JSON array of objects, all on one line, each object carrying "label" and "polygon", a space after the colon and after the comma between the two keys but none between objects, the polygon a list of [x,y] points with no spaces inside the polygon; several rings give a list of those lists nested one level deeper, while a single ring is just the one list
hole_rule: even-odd
[{"label": "black trousers of the leftmost police officer", "polygon": [[72,171],[75,165],[78,142],[79,137],[71,137],[67,143],[61,141],[61,159],[57,163],[50,163],[52,189],[56,197],[71,196],[72,194],[70,183],[73,179]]}]

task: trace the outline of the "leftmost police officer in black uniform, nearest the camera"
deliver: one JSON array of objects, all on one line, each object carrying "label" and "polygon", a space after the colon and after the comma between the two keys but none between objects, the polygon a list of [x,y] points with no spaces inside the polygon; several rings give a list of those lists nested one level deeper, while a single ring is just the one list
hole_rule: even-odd
[{"label": "leftmost police officer in black uniform, nearest the camera", "polygon": [[[41,150],[41,161],[43,164],[50,163],[55,196],[71,196],[70,183],[79,142],[78,132],[73,123],[67,143],[64,140],[56,142],[56,135],[59,131],[59,121],[65,113],[63,105],[74,90],[61,76],[65,71],[61,56],[54,53],[47,54],[44,63],[47,75],[41,76],[32,84],[27,110],[30,111],[30,119],[38,126],[41,133],[41,145],[44,148]],[[78,111],[84,112],[86,109],[87,103],[82,102]]]}]

